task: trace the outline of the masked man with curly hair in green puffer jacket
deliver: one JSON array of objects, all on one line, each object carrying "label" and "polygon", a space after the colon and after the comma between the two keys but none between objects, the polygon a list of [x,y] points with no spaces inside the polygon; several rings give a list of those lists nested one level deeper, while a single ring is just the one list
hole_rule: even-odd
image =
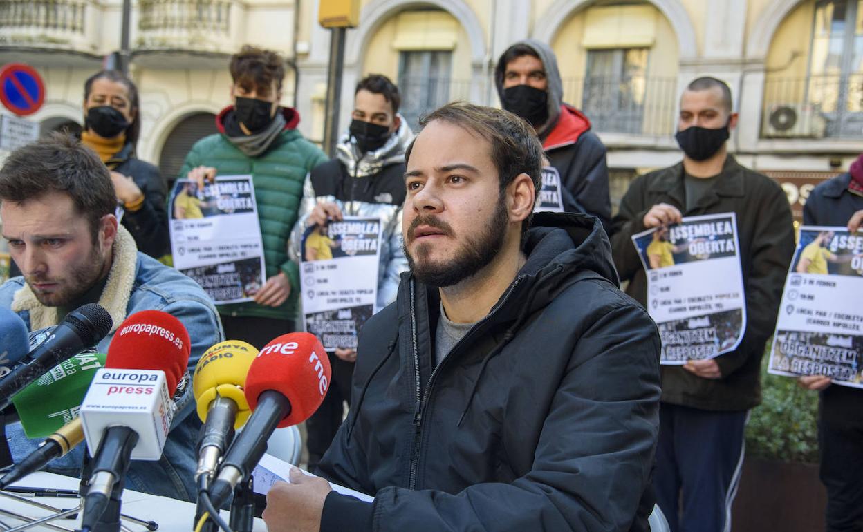
[{"label": "masked man with curly hair in green puffer jacket", "polygon": [[225,337],[263,347],[293,331],[299,308],[299,269],[287,258],[303,183],[326,155],[296,129],[299,113],[280,107],[285,62],[278,53],[245,46],[230,59],[234,105],[216,118],[219,133],[201,139],[186,155],[181,178],[251,174],[261,222],[267,282],[255,301],[219,305]]}]

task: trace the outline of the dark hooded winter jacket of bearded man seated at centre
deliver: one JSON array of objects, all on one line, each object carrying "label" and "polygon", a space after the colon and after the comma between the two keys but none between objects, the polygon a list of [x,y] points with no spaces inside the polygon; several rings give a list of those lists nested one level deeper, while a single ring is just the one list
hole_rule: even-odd
[{"label": "dark hooded winter jacket of bearded man seated at centre", "polygon": [[322,531],[646,530],[657,329],[594,217],[534,226],[526,265],[437,368],[436,289],[406,272],[366,322],[318,473],[375,502],[331,493]]}]

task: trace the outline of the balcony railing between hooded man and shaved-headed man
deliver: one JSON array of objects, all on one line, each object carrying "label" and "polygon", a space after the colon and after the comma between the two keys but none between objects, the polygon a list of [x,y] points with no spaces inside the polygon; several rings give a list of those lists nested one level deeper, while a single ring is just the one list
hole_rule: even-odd
[{"label": "balcony railing between hooded man and shaved-headed man", "polygon": [[667,136],[675,130],[677,78],[564,78],[564,102],[599,133]]}]

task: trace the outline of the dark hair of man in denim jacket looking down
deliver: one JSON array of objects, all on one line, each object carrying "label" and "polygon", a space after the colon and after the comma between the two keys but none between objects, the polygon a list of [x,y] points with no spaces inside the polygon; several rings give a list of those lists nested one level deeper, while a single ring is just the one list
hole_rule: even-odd
[{"label": "dark hair of man in denim jacket looking down", "polygon": [[48,192],[72,197],[90,223],[94,244],[99,221],[117,210],[108,168],[89,147],[60,132],[16,149],[0,168],[0,202],[28,203]]}]

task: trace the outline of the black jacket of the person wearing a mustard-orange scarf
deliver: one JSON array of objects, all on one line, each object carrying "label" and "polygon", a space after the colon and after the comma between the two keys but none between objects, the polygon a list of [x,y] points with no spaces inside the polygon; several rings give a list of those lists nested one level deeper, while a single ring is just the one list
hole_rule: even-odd
[{"label": "black jacket of the person wearing a mustard-orange scarf", "polygon": [[122,150],[105,162],[114,172],[131,177],[144,194],[144,204],[140,210],[126,210],[123,214],[123,227],[135,238],[138,251],[154,259],[171,253],[171,239],[167,232],[167,211],[165,210],[165,181],[155,166],[135,157],[132,145],[127,143]]}]

